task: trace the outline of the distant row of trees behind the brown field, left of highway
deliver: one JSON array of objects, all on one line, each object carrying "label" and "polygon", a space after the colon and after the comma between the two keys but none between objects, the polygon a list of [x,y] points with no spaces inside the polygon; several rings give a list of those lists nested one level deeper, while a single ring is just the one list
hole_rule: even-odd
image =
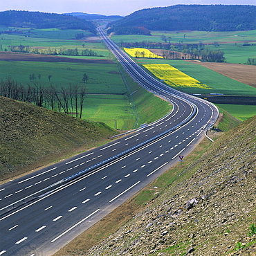
[{"label": "distant row of trees behind the brown field, left of highway", "polygon": [[[83,45],[84,46],[84,45]],[[30,46],[8,46],[11,52],[17,53],[35,53],[35,54],[42,54],[42,55],[69,55],[69,56],[98,56],[101,57],[102,55],[98,55],[95,51],[91,49],[83,49],[78,50],[75,49],[66,49],[66,48],[33,48]]]}]

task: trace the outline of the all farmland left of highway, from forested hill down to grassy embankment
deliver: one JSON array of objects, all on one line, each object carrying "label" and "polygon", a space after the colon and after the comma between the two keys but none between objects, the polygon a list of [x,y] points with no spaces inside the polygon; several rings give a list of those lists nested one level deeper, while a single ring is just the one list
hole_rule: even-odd
[{"label": "all farmland left of highway, from forested hill down to grassy embankment", "polygon": [[[130,77],[125,76],[122,67],[113,61],[113,55],[98,37],[91,37],[91,34],[88,34],[89,37],[81,40],[73,39],[78,32],[81,33],[80,30],[44,29],[30,30],[29,37],[2,34],[0,80],[6,80],[10,75],[12,80],[16,80],[19,84],[28,85],[31,84],[30,75],[34,74],[35,80],[32,84],[41,84],[43,87],[51,84],[60,90],[62,87],[67,88],[69,84],[85,85],[86,98],[82,118],[105,122],[117,129],[127,130],[144,122],[153,122],[170,111],[167,102],[141,89]],[[20,44],[47,51],[49,48],[52,50],[77,48],[79,51],[88,48],[102,56],[62,57],[7,52],[8,46]],[[86,83],[82,82],[84,73],[89,77]],[[134,91],[136,93],[131,97],[130,94]],[[158,111],[154,115],[149,115],[155,104],[159,106]]]}]

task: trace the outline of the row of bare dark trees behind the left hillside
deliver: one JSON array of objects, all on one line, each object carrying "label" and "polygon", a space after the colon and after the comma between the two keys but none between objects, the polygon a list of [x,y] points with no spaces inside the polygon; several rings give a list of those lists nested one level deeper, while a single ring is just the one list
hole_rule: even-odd
[{"label": "row of bare dark trees behind the left hillside", "polygon": [[0,95],[82,118],[86,86],[69,84],[56,88],[53,84],[46,86],[40,82],[24,85],[9,76],[0,82]]}]

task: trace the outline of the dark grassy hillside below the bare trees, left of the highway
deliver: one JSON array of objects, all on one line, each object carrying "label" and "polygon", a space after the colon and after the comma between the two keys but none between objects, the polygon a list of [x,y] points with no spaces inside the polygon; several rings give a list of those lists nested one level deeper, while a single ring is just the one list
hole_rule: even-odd
[{"label": "dark grassy hillside below the bare trees, left of the highway", "polygon": [[0,97],[0,180],[106,143],[116,131]]}]

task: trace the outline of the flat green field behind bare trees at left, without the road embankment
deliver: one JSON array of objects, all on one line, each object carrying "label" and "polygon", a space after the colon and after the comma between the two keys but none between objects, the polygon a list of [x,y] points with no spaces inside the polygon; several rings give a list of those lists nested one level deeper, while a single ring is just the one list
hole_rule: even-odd
[{"label": "flat green field behind bare trees at left, without the road embankment", "polygon": [[[19,83],[30,83],[29,75],[35,73],[42,75],[40,82],[47,86],[48,75],[52,75],[51,84],[60,88],[72,84],[83,84],[82,75],[89,77],[86,83],[86,100],[83,118],[106,122],[114,127],[114,120],[122,120],[120,129],[132,127],[135,122],[134,113],[130,110],[129,98],[125,94],[127,89],[118,74],[116,64],[81,64],[63,62],[0,62],[0,79],[5,80],[11,75]],[[39,80],[37,78],[37,80]],[[93,95],[92,93],[107,93],[106,96]],[[128,109],[128,111],[127,111]]]}]

